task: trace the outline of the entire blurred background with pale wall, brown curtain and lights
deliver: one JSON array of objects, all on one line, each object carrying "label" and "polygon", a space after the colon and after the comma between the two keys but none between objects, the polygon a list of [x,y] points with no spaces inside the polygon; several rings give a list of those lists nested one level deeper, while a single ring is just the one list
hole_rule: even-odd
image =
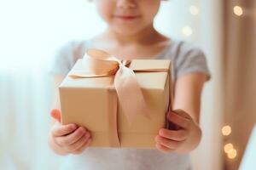
[{"label": "entire blurred background with pale wall, brown curtain and lights", "polygon": [[[57,48],[106,26],[86,0],[0,0],[0,169],[56,169],[48,147]],[[207,54],[197,170],[256,169],[256,1],[163,2],[156,28]]]}]

